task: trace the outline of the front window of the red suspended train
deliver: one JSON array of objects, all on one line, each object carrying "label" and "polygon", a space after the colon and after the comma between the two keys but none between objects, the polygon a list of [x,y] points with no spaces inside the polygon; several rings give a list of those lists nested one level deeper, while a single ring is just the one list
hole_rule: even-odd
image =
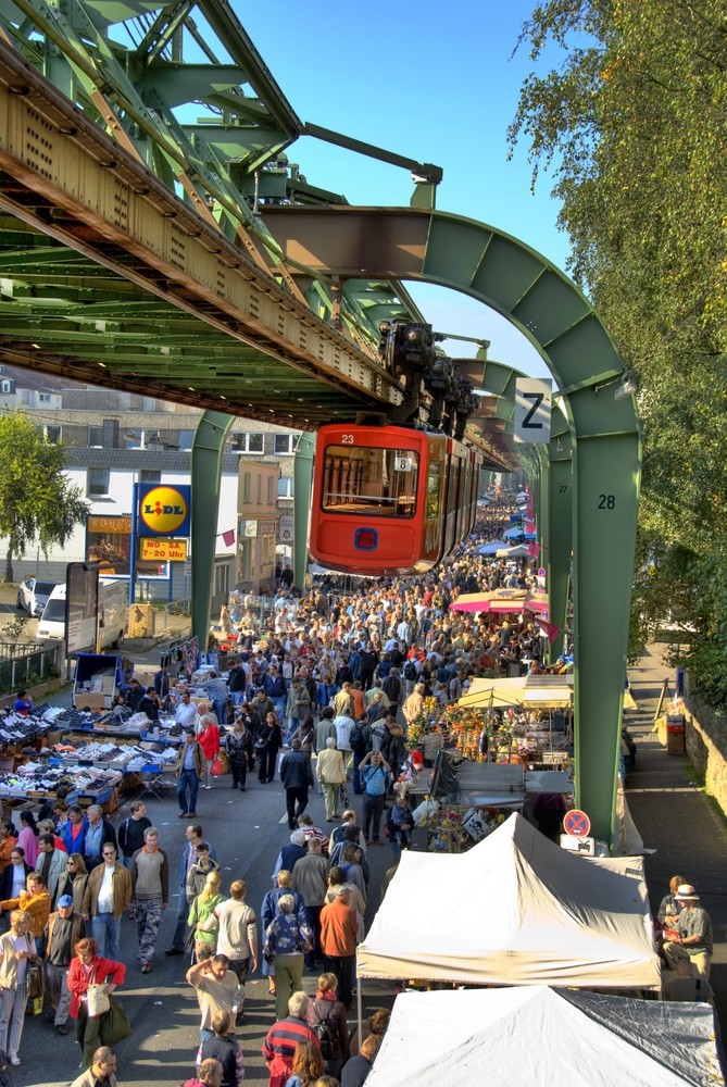
[{"label": "front window of the red suspended train", "polygon": [[321,505],[329,513],[413,517],[419,457],[413,449],[326,446]]}]

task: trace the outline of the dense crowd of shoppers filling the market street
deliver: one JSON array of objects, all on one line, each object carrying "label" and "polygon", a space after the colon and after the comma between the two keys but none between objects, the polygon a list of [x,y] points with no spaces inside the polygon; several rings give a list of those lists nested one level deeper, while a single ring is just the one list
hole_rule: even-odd
[{"label": "dense crowd of shoppers filling the market street", "polygon": [[[124,984],[124,915],[136,925],[141,973],[153,971],[158,932],[176,890],[165,954],[191,958],[186,982],[200,1011],[196,1073],[185,1087],[240,1087],[236,1027],[246,1022],[246,980],[259,966],[275,1004],[275,1022],[261,1039],[270,1087],[364,1083],[388,1023],[381,1009],[358,1038],[348,1022],[373,894],[367,850],[387,841],[391,849],[380,897],[413,825],[399,782],[411,759],[408,730],[426,698],[443,708],[473,676],[502,674],[514,663],[544,666],[546,641],[527,613],[499,620],[449,609],[460,592],[535,587],[532,563],[478,553],[512,508],[507,497],[496,501],[472,537],[419,578],[356,585],[331,576],[304,592],[283,579],[262,623],[225,608],[221,625],[235,641],[235,659],[226,677],[210,676],[205,701],[195,703],[188,688],[175,698],[166,667],[147,689],[129,684],[130,709],[153,721],[160,704],[174,702],[183,730],[177,800],[188,823],[177,873],[141,799],[117,830],[100,808],[84,811],[64,800],[47,805],[38,823],[23,813],[20,834],[13,824],[0,826],[0,910],[10,922],[0,937],[0,1049],[11,1065],[21,1063],[28,964],[39,959],[47,1021],[59,1035],[73,1027],[79,1047],[82,1074],[73,1087],[114,1087],[116,1055],[104,1036],[110,1013],[95,1013],[89,1001],[99,988],[113,1002]],[[221,751],[229,777],[215,778]],[[247,900],[245,879],[224,878],[197,822],[200,789],[224,783],[245,792],[253,772],[262,785],[279,774],[290,832],[259,910]],[[316,787],[333,828],[315,826],[308,812]],[[361,798],[359,811],[349,805],[349,787]],[[660,917],[664,955],[678,979],[695,970],[709,999],[709,917],[694,888],[681,876],[675,880]],[[305,972],[316,978],[314,994],[303,991]]]}]

